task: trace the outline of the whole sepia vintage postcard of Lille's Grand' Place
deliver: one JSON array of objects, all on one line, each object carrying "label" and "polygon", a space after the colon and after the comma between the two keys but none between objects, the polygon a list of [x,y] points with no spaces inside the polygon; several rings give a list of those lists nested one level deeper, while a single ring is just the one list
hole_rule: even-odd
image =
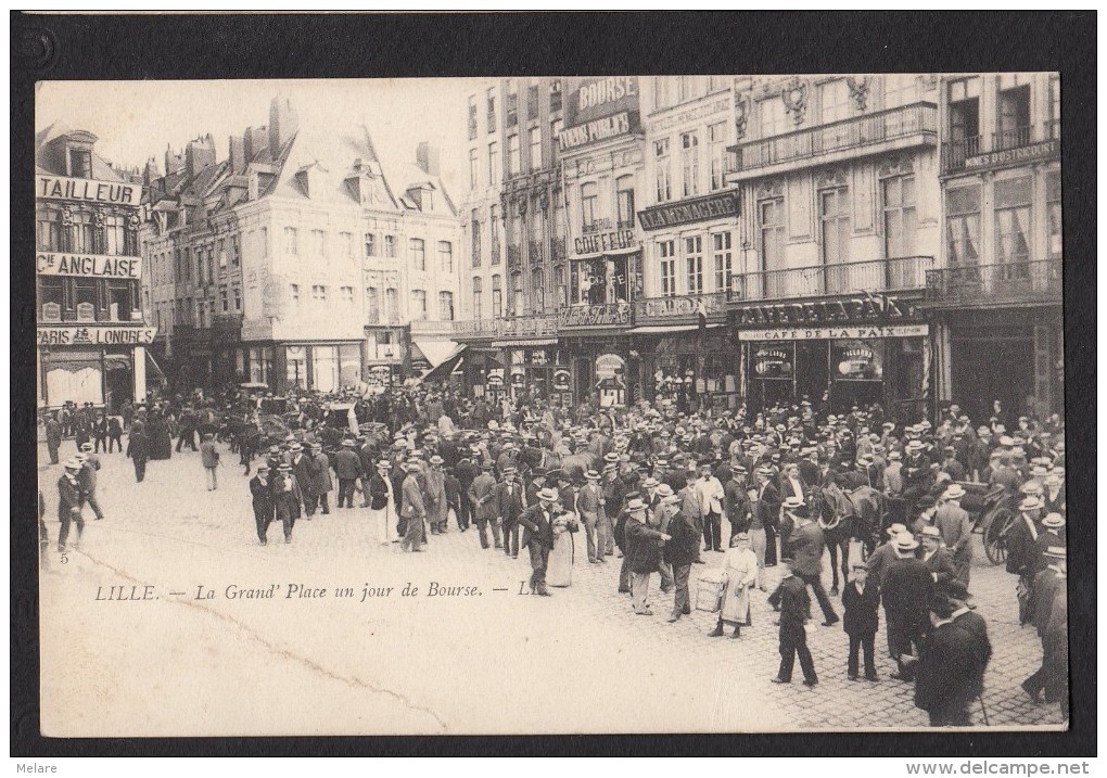
[{"label": "whole sepia vintage postcard of Lille's Grand' Place", "polygon": [[39,83],[42,735],[1067,728],[1061,105]]}]

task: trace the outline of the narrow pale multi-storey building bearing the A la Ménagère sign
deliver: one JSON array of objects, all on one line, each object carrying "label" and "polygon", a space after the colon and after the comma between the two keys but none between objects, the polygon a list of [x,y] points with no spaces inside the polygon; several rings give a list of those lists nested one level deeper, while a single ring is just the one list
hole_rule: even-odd
[{"label": "narrow pale multi-storey building bearing the A la M\u00e9nag\u00e8re sign", "polygon": [[738,400],[726,295],[739,242],[737,193],[726,180],[734,142],[733,80],[656,76],[643,90],[644,298],[634,328],[644,395],[715,406]]}]

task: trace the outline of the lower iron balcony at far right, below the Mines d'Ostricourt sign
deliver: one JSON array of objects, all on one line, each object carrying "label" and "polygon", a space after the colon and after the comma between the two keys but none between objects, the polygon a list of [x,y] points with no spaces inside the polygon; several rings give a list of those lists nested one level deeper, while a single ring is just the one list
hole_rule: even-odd
[{"label": "lower iron balcony at far right, below the Mines d'Ostricourt sign", "polygon": [[1061,304],[1062,260],[971,264],[927,271],[930,308]]}]

